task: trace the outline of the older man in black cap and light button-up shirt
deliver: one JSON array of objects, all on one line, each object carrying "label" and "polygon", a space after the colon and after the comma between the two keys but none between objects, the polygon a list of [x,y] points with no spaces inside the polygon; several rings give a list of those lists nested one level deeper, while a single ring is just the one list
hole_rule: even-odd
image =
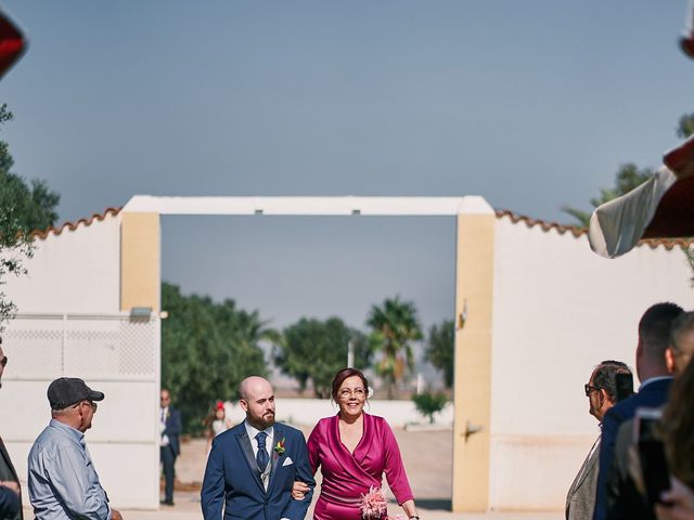
[{"label": "older man in black cap and light button-up shirt", "polygon": [[91,428],[102,392],[72,377],[48,387],[51,421],[29,452],[29,500],[36,520],[121,520],[99,483],[85,432]]}]

